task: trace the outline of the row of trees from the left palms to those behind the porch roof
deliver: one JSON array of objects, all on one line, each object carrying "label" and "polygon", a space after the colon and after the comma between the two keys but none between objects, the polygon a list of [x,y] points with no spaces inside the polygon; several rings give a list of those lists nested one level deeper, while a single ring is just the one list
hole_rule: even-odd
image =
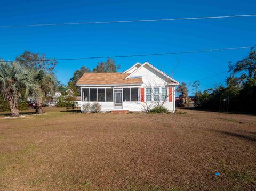
[{"label": "row of trees from the left palms to those behind the porch roof", "polygon": [[[25,51],[13,62],[0,61],[0,110],[10,109],[12,117],[19,116],[19,109],[27,108],[28,98],[34,101],[35,112],[42,114],[45,101],[65,87],[55,75],[57,60],[45,54]],[[74,72],[65,89],[70,88],[77,95],[76,82],[85,72],[117,72],[118,69],[111,59],[99,62],[93,70],[83,66]]]}]

